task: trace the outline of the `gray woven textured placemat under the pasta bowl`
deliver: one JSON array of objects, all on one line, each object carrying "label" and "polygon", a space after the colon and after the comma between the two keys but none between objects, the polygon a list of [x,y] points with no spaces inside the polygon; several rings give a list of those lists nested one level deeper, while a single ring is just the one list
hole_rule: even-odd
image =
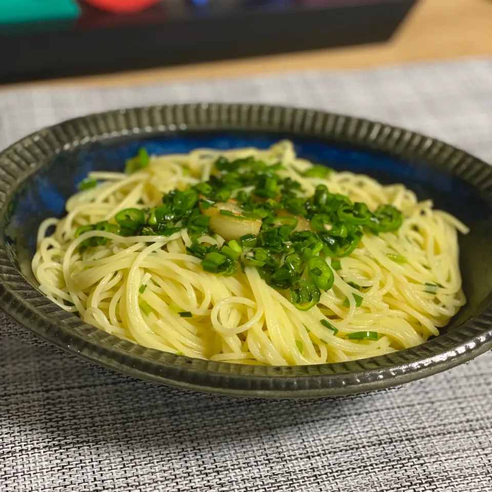
[{"label": "gray woven textured placemat under the pasta bowl", "polygon": [[[492,61],[106,90],[0,92],[0,147],[93,111],[257,101],[418,130],[492,161]],[[69,356],[0,315],[0,490],[490,492],[492,354],[387,392],[201,395]],[[34,341],[34,343],[32,343]]]}]

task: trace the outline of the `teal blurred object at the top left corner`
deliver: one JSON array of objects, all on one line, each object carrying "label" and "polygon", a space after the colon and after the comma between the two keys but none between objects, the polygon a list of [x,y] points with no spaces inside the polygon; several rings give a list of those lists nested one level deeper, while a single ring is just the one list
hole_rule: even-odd
[{"label": "teal blurred object at the top left corner", "polygon": [[0,0],[0,24],[72,19],[79,13],[74,0]]}]

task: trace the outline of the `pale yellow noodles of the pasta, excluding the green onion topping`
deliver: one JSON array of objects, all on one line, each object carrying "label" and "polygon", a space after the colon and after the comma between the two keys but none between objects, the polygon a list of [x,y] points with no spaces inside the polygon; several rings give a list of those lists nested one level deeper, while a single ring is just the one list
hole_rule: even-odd
[{"label": "pale yellow noodles of the pasta, excluding the green onion topping", "polygon": [[[137,209],[148,217],[162,204],[163,194],[208,181],[219,173],[216,163],[224,158],[277,165],[279,176],[300,183],[301,197],[311,197],[319,185],[325,185],[330,193],[365,203],[372,212],[389,204],[401,211],[403,221],[392,232],[375,234],[365,228],[347,256],[321,252],[328,274],[333,273],[333,285],[318,290],[319,300],[310,309],[296,306],[289,290],[270,286],[272,281],[258,268],[262,262],[256,262],[248,248],[236,248],[240,258],[234,262],[235,273],[220,273],[220,267],[214,272],[214,261],[222,261],[221,248],[231,240],[224,236],[244,232],[241,227],[231,232],[231,219],[240,214],[234,197],[238,191],[250,195],[251,187],[224,197],[230,207],[206,219],[214,224],[212,231],[210,226],[202,233],[177,227],[166,235],[152,235],[148,229],[146,235],[125,236],[115,232],[116,226],[113,230],[119,212]],[[403,185],[382,186],[350,172],[310,173],[313,164],[298,158],[289,141],[268,150],[197,149],[187,155],[151,156],[146,167],[138,166],[138,158],[135,162],[137,166],[127,163],[126,173],[90,173],[83,191],[67,201],[67,215],[49,218],[39,227],[32,260],[39,289],[46,296],[112,335],[201,359],[319,364],[418,345],[438,335],[465,303],[457,235],[466,234],[467,228],[434,210],[432,201],[417,201]],[[210,212],[200,210],[210,217],[217,212],[214,207]],[[255,214],[250,216],[254,221]],[[309,223],[300,227],[305,219],[298,219],[294,221],[298,229],[311,230]],[[97,230],[90,225],[96,223],[110,225]],[[261,219],[255,223],[261,227]],[[54,232],[47,235],[53,226]],[[246,232],[250,226],[245,220]],[[193,244],[219,252],[209,255],[211,268],[202,266],[203,256],[190,254]],[[232,243],[232,249],[237,244],[241,241]],[[288,249],[289,241],[283,247]],[[277,254],[279,267],[286,256]],[[320,270],[313,268],[313,272]],[[308,268],[298,274],[299,282],[312,285]]]}]

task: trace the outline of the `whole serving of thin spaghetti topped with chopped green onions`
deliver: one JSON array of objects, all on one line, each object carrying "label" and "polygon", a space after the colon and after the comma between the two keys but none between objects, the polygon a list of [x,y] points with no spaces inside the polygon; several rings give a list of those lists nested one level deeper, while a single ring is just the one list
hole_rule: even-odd
[{"label": "whole serving of thin spaghetti topped with chopped green onions", "polygon": [[157,350],[348,361],[423,343],[465,303],[461,222],[403,185],[314,166],[289,141],[141,150],[125,173],[91,172],[80,189],[39,227],[39,289]]}]

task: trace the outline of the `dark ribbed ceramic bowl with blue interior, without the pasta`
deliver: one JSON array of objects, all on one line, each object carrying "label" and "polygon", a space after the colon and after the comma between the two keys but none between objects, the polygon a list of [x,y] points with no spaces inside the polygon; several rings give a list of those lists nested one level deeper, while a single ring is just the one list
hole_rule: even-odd
[{"label": "dark ribbed ceramic bowl with blue interior, without the pasta", "polygon": [[[401,182],[433,198],[471,228],[460,237],[468,299],[439,337],[418,347],[354,362],[264,367],[159,352],[96,329],[37,290],[31,271],[39,223],[61,216],[91,170],[120,171],[150,153],[197,147],[265,148],[294,141],[301,157]],[[492,347],[492,168],[414,132],[378,122],[262,105],[196,104],[111,111],[66,121],[0,154],[0,306],[40,337],[116,371],[173,386],[255,397],[321,397],[365,392],[419,379]],[[19,327],[19,330],[21,328]]]}]

